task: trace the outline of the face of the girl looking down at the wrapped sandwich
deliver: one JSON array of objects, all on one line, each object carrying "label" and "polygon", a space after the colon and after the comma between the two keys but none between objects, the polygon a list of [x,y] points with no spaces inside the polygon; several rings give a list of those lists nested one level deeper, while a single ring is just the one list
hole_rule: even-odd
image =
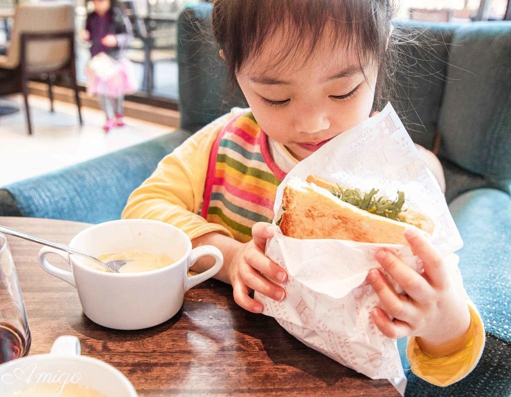
[{"label": "face of the girl looking down at the wrapped sandwich", "polygon": [[367,119],[373,106],[376,68],[363,65],[364,77],[358,58],[342,42],[333,51],[327,33],[309,59],[300,54],[277,65],[286,40],[275,34],[236,75],[260,127],[298,160]]}]

